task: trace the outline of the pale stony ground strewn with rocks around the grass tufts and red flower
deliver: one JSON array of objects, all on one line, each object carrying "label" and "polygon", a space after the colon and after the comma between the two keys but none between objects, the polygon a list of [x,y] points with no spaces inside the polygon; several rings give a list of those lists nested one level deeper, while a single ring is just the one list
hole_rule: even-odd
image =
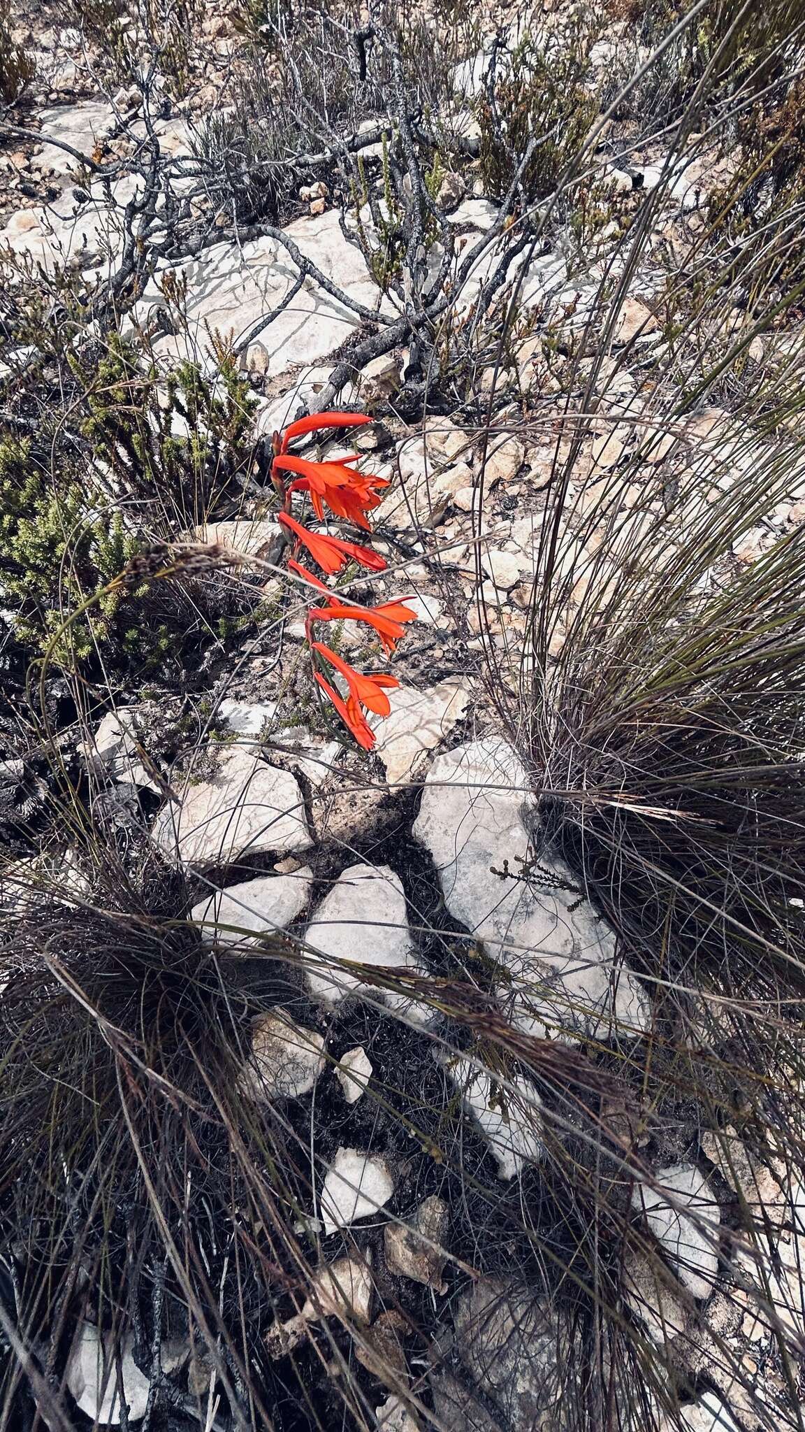
[{"label": "pale stony ground strewn with rocks around the grass tufts and red flower", "polygon": [[[549,36],[574,23],[570,7],[543,9]],[[607,84],[632,73],[646,42],[627,6],[612,10],[580,90],[594,100],[579,160],[593,178],[556,222],[553,200],[527,209],[484,160],[484,96],[506,84],[524,16],[481,16],[464,49],[454,37],[438,110],[417,60],[417,125],[430,116],[447,136],[438,162],[433,146],[415,162],[397,156],[392,193],[388,152],[400,136],[403,149],[411,136],[420,145],[394,84],[385,113],[377,96],[364,112],[331,96],[335,117],[311,123],[319,162],[299,146],[261,160],[264,189],[275,170],[284,186],[276,202],[264,195],[262,213],[244,200],[259,146],[244,159],[232,129],[219,136],[252,83],[233,11],[199,19],[182,86],[166,77],[165,36],[152,72],[122,83],[66,11],[46,26],[19,17],[11,32],[34,74],[0,123],[3,431],[34,453],[46,434],[56,453],[52,415],[66,414],[66,432],[83,401],[70,375],[82,362],[100,371],[85,348],[113,332],[142,359],[142,387],[123,390],[120,411],[148,415],[160,461],[201,431],[173,375],[195,365],[223,401],[226,351],[246,458],[223,460],[221,440],[203,501],[186,483],[166,531],[159,478],[145,497],[120,484],[120,453],[142,464],[142,434],[130,448],[123,427],[112,445],[92,427],[74,440],[93,520],[97,494],[112,493],[146,553],[202,563],[215,548],[218,567],[202,576],[219,584],[228,624],[199,587],[176,619],[193,632],[189,654],[183,632],[166,627],[150,667],[113,644],[70,666],[21,633],[17,589],[3,587],[6,988],[30,978],[26,941],[44,911],[50,974],[92,1002],[70,975],[66,931],[116,918],[123,885],[136,888],[138,929],[162,922],[236,1004],[226,1097],[244,1127],[232,1147],[252,1150],[249,1169],[259,1148],[269,1171],[248,1216],[251,1193],[238,1189],[226,1207],[211,1191],[202,1232],[189,1183],[219,1154],[193,1126],[199,1163],[182,1179],[209,1306],[189,1300],[178,1227],[165,1226],[173,1252],[160,1287],[175,1306],[153,1326],[122,1296],[96,1296],[87,1239],[80,1276],[46,1300],[36,1337],[36,1319],[23,1333],[20,1300],[42,1254],[39,1226],[36,1239],[17,1230],[0,1339],[9,1366],[24,1366],[20,1333],[30,1337],[37,1411],[11,1379],[1,1426],[802,1425],[796,1158],[775,1127],[761,1160],[753,1116],[722,1094],[736,1058],[726,1012],[710,1018],[683,974],[666,975],[627,938],[579,852],[554,839],[543,798],[567,783],[564,756],[540,752],[530,716],[533,692],[564,680],[590,611],[612,613],[647,567],[670,590],[700,534],[725,530],[731,503],[742,518],[735,540],[713,537],[699,597],[749,580],[805,518],[796,422],[763,424],[768,397],[753,408],[755,394],[796,385],[796,304],[762,324],[729,284],[713,285],[690,318],[696,276],[723,262],[712,206],[739,169],[735,136],[725,146],[703,122],[680,136],[656,116],[622,116]],[[423,23],[431,37],[445,24],[427,11]],[[115,24],[123,46],[145,44],[142,17]],[[269,50],[269,80],[278,66]],[[358,153],[360,166],[348,162]],[[417,232],[405,205],[425,169],[433,212]],[[96,407],[109,392],[117,401],[116,384],[90,384]],[[352,576],[350,596],[405,596],[417,616],[390,666],[362,626],[328,633],[352,666],[398,679],[390,715],[371,717],[371,752],[309,679],[308,599],[288,581],[268,481],[275,430],[322,407],[374,422],[299,451],[358,451],[390,483],[372,514],[387,567]],[[56,617],[66,606],[53,599]],[[142,610],[140,636],[149,623],[162,630]],[[149,905],[143,892],[159,882],[168,895]],[[690,995],[685,1020],[669,1012],[669,982]],[[92,1008],[119,1053],[125,1018]],[[136,1000],[126,1008],[135,1018]],[[9,1015],[14,1050],[23,1014]],[[132,1088],[148,1063],[135,1044],[120,1055]],[[655,1058],[662,1093],[652,1085],[639,1107]],[[168,1104],[179,1098],[162,1085]],[[186,1110],[192,1123],[196,1104]],[[258,1128],[262,1143],[249,1143]],[[7,1137],[6,1232],[20,1177],[20,1136]],[[64,1163],[66,1186],[76,1177]],[[109,1229],[125,1216],[109,1209]],[[77,1226],[66,1219],[76,1239]],[[596,1239],[606,1257],[590,1253]],[[256,1273],[238,1266],[246,1330],[231,1283],[244,1250],[255,1266],[259,1253],[262,1277],[258,1293]],[[218,1316],[248,1349],[248,1375]],[[584,1400],[590,1358],[609,1405]],[[249,1378],[259,1393],[245,1412]]]}]

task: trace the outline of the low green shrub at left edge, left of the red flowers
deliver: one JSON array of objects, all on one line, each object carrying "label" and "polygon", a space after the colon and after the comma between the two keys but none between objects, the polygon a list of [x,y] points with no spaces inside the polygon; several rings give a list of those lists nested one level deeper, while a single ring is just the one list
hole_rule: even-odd
[{"label": "low green shrub at left edge, left of the red flowers", "polygon": [[[149,669],[183,659],[205,621],[219,639],[229,632],[222,621],[241,630],[254,603],[229,584],[202,591],[198,580],[159,580],[105,591],[152,538],[176,540],[202,521],[251,457],[251,402],[232,358],[222,355],[216,379],[182,364],[162,387],[117,337],[93,371],[74,354],[69,364],[76,441],[37,448],[0,434],[0,589],[17,639],[46,652],[59,633],[53,659],[63,667],[102,647],[105,660]],[[176,417],[188,435],[173,434]],[[86,444],[95,471],[74,455]]]}]

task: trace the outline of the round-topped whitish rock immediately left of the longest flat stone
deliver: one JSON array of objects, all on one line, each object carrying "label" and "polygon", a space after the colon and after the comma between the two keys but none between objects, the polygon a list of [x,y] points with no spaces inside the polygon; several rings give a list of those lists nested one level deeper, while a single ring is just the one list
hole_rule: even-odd
[{"label": "round-topped whitish rock immediately left of the longest flat stone", "polygon": [[[305,977],[311,992],[338,1004],[361,988],[361,975],[350,964],[415,969],[414,947],[400,876],[388,865],[350,865],[314,914],[307,944],[324,955],[311,962]],[[338,968],[337,961],[345,961]]]}]

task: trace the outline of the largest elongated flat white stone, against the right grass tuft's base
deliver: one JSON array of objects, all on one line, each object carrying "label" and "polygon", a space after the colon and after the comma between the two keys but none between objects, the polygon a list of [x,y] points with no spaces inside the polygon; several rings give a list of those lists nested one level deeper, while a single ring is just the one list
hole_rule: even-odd
[{"label": "largest elongated flat white stone, against the right grass tuft's base", "polygon": [[[533,808],[520,759],[490,736],[435,758],[414,836],[434,859],[450,914],[508,969],[513,1024],[536,1035],[549,1025],[633,1037],[646,1027],[647,1001],[619,959],[614,932],[570,872],[546,855],[544,884],[539,871],[529,882],[516,879],[517,861],[531,853]],[[510,874],[493,874],[504,862]]]}]

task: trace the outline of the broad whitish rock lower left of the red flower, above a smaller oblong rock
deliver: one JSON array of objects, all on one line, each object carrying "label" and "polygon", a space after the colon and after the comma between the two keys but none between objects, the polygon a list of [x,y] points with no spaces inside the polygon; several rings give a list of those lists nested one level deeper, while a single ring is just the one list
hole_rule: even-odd
[{"label": "broad whitish rock lower left of the red flower, above a smaller oblong rock", "polygon": [[[205,750],[206,755],[206,750]],[[251,749],[235,748],[209,778],[185,778],[179,803],[158,812],[152,839],[185,865],[226,865],[241,855],[286,855],[311,845],[299,783]]]}]

